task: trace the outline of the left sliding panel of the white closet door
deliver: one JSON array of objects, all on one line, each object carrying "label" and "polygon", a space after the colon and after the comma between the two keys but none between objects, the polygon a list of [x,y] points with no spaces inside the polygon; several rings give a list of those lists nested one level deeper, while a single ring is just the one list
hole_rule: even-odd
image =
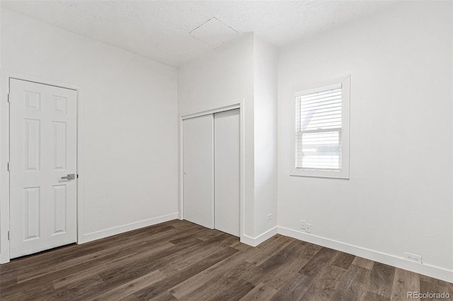
[{"label": "left sliding panel of the white closet door", "polygon": [[212,114],[183,121],[184,219],[214,228]]}]

